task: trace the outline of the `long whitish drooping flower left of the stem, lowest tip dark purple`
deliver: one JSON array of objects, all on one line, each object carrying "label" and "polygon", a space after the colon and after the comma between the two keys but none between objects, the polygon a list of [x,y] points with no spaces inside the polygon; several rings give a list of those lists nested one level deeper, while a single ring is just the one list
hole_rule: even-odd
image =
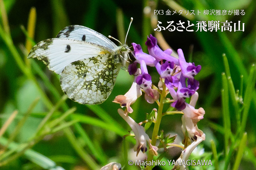
[{"label": "long whitish drooping flower left of the stem, lowest tip dark purple", "polygon": [[122,109],[118,109],[118,113],[132,128],[132,131],[136,139],[136,145],[134,146],[134,151],[137,152],[137,155],[140,152],[140,150],[143,153],[147,151],[147,143],[150,147],[150,152],[154,155],[157,155],[158,148],[156,146],[151,145],[150,138],[146,134],[144,127],[137,124],[130,116],[126,115],[126,113]]}]

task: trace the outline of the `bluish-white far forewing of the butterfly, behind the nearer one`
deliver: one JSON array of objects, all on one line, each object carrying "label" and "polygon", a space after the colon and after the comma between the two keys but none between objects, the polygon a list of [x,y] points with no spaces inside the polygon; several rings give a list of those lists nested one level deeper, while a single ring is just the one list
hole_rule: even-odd
[{"label": "bluish-white far forewing of the butterfly, behind the nearer one", "polygon": [[110,49],[115,49],[117,46],[104,35],[90,28],[81,25],[70,25],[62,29],[56,38],[68,38],[72,40],[86,41],[94,44],[99,44]]}]

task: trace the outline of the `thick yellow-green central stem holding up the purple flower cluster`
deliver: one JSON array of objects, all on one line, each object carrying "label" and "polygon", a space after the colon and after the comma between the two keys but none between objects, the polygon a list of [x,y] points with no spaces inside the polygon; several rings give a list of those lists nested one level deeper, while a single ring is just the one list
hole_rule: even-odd
[{"label": "thick yellow-green central stem holding up the purple flower cluster", "polygon": [[[164,84],[164,85],[163,85],[162,93],[160,94],[160,95],[161,95],[161,98],[160,98],[160,105],[159,105],[159,107],[158,107],[156,122],[155,122],[155,125],[154,125],[153,134],[152,134],[151,144],[152,144],[153,146],[156,145],[156,136],[158,135],[158,131],[159,131],[161,119],[162,119],[162,116],[163,116],[163,107],[164,107],[164,102],[163,102],[163,101],[164,101],[164,98],[165,98],[165,89],[166,89],[166,86],[165,86],[165,84]],[[154,155],[151,154],[151,153],[148,153],[147,161],[152,161],[153,158],[154,158]],[[151,166],[147,166],[147,170],[151,170],[151,169],[152,169]]]}]

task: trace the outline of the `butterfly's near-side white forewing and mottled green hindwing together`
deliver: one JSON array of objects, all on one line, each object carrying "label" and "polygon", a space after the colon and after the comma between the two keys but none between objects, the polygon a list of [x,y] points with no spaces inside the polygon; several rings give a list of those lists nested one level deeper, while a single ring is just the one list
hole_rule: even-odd
[{"label": "butterfly's near-side white forewing and mottled green hindwing together", "polygon": [[110,95],[121,68],[120,55],[90,42],[52,38],[35,45],[28,58],[42,60],[60,74],[61,88],[82,104],[99,104]]}]

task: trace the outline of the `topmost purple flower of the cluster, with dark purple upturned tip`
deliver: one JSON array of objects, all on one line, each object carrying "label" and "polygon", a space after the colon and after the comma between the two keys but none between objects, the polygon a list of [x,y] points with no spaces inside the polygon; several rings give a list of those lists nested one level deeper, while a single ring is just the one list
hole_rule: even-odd
[{"label": "topmost purple flower of the cluster, with dark purple upturned tip", "polygon": [[173,56],[170,56],[170,54],[172,53],[171,49],[163,51],[158,47],[156,37],[153,37],[150,34],[150,36],[147,37],[147,41],[145,44],[147,45],[149,54],[153,56],[158,62],[161,60],[167,60],[170,62],[174,62],[174,64],[176,65],[179,65],[179,60]]}]

